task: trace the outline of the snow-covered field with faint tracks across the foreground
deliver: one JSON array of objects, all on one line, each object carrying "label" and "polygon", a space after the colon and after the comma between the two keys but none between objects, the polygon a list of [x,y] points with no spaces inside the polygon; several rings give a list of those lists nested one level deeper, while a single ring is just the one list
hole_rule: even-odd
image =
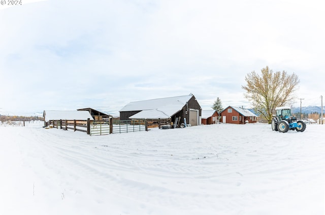
[{"label": "snow-covered field with faint tracks across the foreground", "polygon": [[0,214],[324,214],[325,125],[0,126]]}]

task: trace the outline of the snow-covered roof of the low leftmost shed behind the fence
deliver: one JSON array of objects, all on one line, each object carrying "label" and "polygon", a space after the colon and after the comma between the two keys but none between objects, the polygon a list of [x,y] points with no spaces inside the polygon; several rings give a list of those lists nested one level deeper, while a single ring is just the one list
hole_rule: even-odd
[{"label": "snow-covered roof of the low leftmost shed behind the fence", "polygon": [[59,119],[69,119],[69,120],[87,120],[88,118],[93,119],[89,111],[79,111],[79,110],[44,110],[44,120],[59,120]]}]

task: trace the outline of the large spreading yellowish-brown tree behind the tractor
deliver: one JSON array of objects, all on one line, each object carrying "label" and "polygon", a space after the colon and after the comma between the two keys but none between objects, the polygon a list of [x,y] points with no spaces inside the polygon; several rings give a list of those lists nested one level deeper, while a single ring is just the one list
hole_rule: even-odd
[{"label": "large spreading yellowish-brown tree behind the tractor", "polygon": [[275,108],[289,105],[296,99],[295,92],[299,88],[299,77],[295,73],[273,72],[267,66],[261,70],[259,76],[255,71],[245,76],[246,90],[245,97],[252,103],[255,111],[261,113],[269,124],[272,121],[272,114]]}]

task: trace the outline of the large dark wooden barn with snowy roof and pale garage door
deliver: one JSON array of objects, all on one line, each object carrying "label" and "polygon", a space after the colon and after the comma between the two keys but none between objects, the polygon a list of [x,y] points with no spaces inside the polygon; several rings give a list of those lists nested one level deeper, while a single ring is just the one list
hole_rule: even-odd
[{"label": "large dark wooden barn with snowy roof and pale garage door", "polygon": [[171,124],[174,124],[172,128],[177,128],[181,123],[198,126],[201,111],[202,108],[197,99],[190,94],[131,102],[119,112],[120,120],[151,119],[157,121],[168,119]]}]

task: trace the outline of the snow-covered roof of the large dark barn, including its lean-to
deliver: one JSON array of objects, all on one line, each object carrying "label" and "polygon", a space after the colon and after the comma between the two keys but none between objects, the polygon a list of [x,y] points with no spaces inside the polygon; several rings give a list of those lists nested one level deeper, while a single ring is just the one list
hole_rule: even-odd
[{"label": "snow-covered roof of the large dark barn, including its lean-to", "polygon": [[[144,110],[154,110],[154,111],[145,111],[142,113],[142,118],[149,118],[145,117],[145,114],[148,114],[147,116],[152,117],[153,115],[157,116],[164,116],[160,118],[168,118],[178,111],[180,111],[184,105],[186,105],[186,102],[192,98],[193,95],[187,95],[187,96],[178,96],[178,97],[169,97],[169,98],[161,98],[161,99],[151,99],[151,100],[144,100],[144,101],[137,101],[137,102],[130,102],[127,105],[125,105],[120,112],[122,111],[141,111]],[[160,112],[160,113],[159,113]],[[137,113],[138,116],[140,116],[140,113]],[[135,114],[136,115],[136,114]],[[134,115],[134,116],[135,116]],[[138,117],[137,116],[137,117]],[[134,117],[132,117],[134,118]]]}]

